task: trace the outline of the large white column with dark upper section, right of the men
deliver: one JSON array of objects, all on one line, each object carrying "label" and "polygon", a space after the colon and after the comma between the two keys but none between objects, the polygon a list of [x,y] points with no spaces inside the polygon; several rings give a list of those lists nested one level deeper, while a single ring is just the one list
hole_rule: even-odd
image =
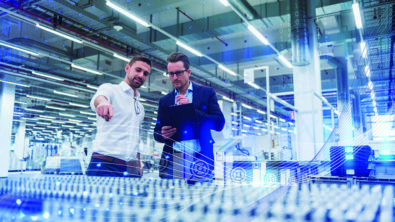
[{"label": "large white column with dark upper section, right of the men", "polygon": [[291,1],[297,159],[312,160],[323,145],[321,70],[314,0]]}]

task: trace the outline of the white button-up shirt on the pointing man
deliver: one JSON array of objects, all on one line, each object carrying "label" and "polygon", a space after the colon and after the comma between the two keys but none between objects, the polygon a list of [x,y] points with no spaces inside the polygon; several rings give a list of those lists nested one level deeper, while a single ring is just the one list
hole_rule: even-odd
[{"label": "white button-up shirt on the pointing man", "polygon": [[91,100],[91,109],[97,96],[105,96],[113,107],[109,121],[96,115],[97,133],[93,152],[112,156],[125,161],[136,160],[140,143],[140,127],[144,119],[144,107],[139,102],[140,94],[125,82],[101,85]]}]

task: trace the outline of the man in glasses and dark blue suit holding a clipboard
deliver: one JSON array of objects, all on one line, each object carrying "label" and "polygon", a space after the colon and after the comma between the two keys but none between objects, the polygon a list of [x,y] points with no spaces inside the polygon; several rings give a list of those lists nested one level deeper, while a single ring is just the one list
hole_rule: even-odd
[{"label": "man in glasses and dark blue suit holding a clipboard", "polygon": [[[167,58],[167,63],[167,73],[175,89],[159,100],[154,138],[160,143],[165,143],[159,176],[172,179],[179,178],[175,175],[183,174],[190,183],[211,181],[214,170],[214,140],[211,130],[221,131],[225,124],[216,93],[211,87],[200,86],[189,81],[191,70],[189,58],[185,54],[174,52]],[[195,137],[175,141],[174,135],[180,129],[163,124],[166,122],[164,109],[188,103],[193,103],[195,109],[196,122],[193,129]],[[182,163],[184,166],[181,166]]]}]

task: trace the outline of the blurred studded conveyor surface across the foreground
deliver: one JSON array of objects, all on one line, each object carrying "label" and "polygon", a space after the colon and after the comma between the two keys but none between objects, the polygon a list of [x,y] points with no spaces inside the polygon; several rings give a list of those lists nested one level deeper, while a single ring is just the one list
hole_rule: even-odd
[{"label": "blurred studded conveyor surface across the foreground", "polygon": [[13,174],[0,221],[394,221],[393,186],[217,185],[151,178]]}]

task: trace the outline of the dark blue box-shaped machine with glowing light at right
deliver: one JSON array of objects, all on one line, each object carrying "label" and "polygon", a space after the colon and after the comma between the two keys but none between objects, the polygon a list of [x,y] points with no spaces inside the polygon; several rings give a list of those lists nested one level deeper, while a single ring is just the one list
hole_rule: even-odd
[{"label": "dark blue box-shaped machine with glowing light at right", "polygon": [[332,176],[368,177],[369,146],[332,146],[330,148],[330,166]]}]

